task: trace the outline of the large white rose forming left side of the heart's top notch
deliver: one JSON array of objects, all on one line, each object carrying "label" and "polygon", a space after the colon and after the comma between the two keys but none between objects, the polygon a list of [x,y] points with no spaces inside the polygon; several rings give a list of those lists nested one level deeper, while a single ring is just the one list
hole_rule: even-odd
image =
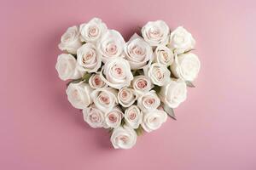
[{"label": "large white rose forming left side of the heart's top notch", "polygon": [[102,61],[106,63],[108,59],[120,57],[123,53],[125,40],[119,31],[108,30],[97,43],[97,48],[102,54]]}]

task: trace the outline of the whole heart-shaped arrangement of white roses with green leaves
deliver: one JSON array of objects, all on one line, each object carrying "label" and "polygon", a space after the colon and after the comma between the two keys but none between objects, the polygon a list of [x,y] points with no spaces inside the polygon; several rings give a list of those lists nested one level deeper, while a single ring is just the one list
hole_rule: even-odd
[{"label": "whole heart-shaped arrangement of white roses with green leaves", "polygon": [[136,144],[137,134],[151,132],[173,117],[187,96],[187,83],[200,70],[190,51],[195,40],[183,27],[174,31],[162,20],[150,21],[128,42],[98,18],[73,26],[61,37],[55,65],[61,80],[73,79],[67,99],[83,110],[90,127],[111,130],[118,149]]}]

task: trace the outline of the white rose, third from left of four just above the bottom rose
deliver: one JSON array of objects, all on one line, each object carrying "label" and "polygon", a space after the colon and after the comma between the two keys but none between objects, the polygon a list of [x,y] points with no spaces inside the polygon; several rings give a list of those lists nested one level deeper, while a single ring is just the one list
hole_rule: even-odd
[{"label": "white rose, third from left of four just above the bottom rose", "polygon": [[132,128],[137,128],[143,122],[143,113],[137,107],[137,105],[131,105],[131,107],[125,110],[125,123]]}]

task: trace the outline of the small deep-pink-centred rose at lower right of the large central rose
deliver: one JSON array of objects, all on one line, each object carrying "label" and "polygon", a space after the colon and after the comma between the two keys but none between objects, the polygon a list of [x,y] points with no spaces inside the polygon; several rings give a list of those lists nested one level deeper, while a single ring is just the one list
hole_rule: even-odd
[{"label": "small deep-pink-centred rose at lower right of the large central rose", "polygon": [[131,82],[132,88],[136,91],[137,94],[145,94],[154,87],[149,77],[146,76],[137,76]]}]

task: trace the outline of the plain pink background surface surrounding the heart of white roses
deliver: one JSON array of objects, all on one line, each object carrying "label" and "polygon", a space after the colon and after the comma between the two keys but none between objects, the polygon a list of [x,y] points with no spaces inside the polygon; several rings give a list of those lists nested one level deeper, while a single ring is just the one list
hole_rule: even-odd
[{"label": "plain pink background surface surrounding the heart of white roses", "polygon": [[[0,169],[256,169],[255,1],[2,0]],[[68,103],[55,61],[68,26],[102,18],[127,40],[148,20],[197,41],[196,88],[169,119],[113,150]]]}]

